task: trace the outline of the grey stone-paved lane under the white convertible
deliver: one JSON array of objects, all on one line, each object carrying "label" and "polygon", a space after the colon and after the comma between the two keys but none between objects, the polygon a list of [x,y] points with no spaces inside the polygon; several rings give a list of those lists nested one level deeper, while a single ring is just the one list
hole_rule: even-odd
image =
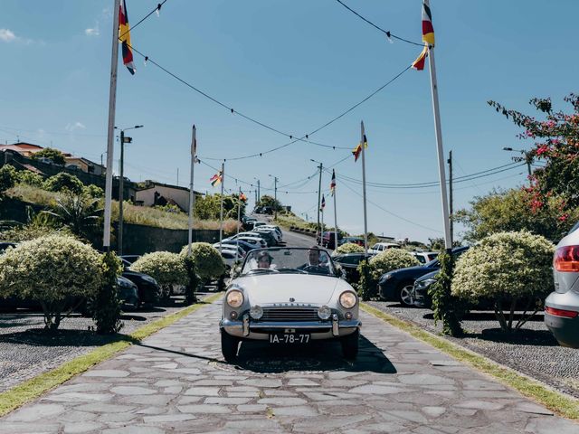
[{"label": "grey stone-paved lane under the white convertible", "polygon": [[579,424],[362,314],[355,363],[339,344],[242,344],[223,363],[218,304],[0,420],[0,433],[557,433]]}]

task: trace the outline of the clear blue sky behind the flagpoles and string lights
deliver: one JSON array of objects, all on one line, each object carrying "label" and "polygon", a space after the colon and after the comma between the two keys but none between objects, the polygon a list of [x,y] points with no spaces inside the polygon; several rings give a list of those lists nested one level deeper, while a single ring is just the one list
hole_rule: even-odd
[{"label": "clear blue sky behind the flagpoles and string lights", "polygon": [[[127,3],[129,23],[136,24],[157,0]],[[420,41],[420,0],[345,3],[384,29]],[[3,143],[20,137],[100,161],[106,150],[112,5],[113,0],[2,0]],[[511,155],[501,150],[503,146],[530,144],[519,142],[517,128],[486,101],[496,99],[529,110],[528,99],[551,96],[557,106],[565,107],[562,98],[577,91],[579,2],[432,0],[431,7],[442,133],[445,152],[453,152],[455,175],[508,164]],[[383,33],[335,0],[168,0],[160,17],[151,16],[131,37],[139,51],[199,89],[295,136],[365,98],[420,52],[413,45],[387,42]],[[205,158],[242,156],[288,142],[216,106],[154,65],[144,66],[137,54],[135,59],[135,76],[119,61],[117,93],[117,125],[145,125],[130,132],[134,143],[126,152],[126,174],[132,180],[176,183],[178,168],[179,184],[187,184],[193,123],[198,127],[199,156],[214,166],[219,162]],[[361,119],[369,141],[369,182],[438,179],[428,71],[407,71],[311,139],[353,147]],[[115,152],[118,158],[118,148]],[[273,186],[268,175],[277,175],[281,185],[290,184],[314,174],[310,158],[332,165],[348,153],[297,143],[269,156],[228,163],[226,173],[248,182],[259,177],[261,193],[268,193],[265,189]],[[338,175],[361,178],[359,161],[348,159],[336,169]],[[455,209],[494,187],[523,183],[525,172],[519,168],[456,184]],[[209,167],[197,166],[195,189],[213,191],[209,184],[213,174]],[[325,174],[323,188],[329,181]],[[281,188],[280,200],[315,220],[317,194],[295,192],[315,191],[317,177],[296,185]],[[237,188],[230,179],[225,186]],[[361,193],[359,185],[348,186]],[[368,203],[370,231],[422,241],[441,236],[437,187],[372,187],[368,198],[410,221]],[[339,180],[337,208],[338,225],[352,232],[363,230],[362,200]],[[333,222],[329,198],[326,214],[326,221]]]}]

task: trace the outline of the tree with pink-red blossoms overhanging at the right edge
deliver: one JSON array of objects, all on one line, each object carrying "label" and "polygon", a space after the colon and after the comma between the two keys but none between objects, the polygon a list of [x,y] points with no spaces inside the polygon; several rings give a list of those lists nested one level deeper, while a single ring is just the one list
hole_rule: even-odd
[{"label": "tree with pink-red blossoms overhanging at the right edge", "polygon": [[557,218],[569,229],[574,224],[570,216],[579,207],[579,96],[572,93],[564,100],[571,104],[573,113],[555,111],[549,98],[531,99],[529,103],[544,115],[542,119],[506,109],[495,101],[489,101],[489,105],[524,128],[520,139],[533,141],[526,159],[545,163],[529,177],[526,191],[531,195],[531,211],[542,210],[555,197],[560,201]]}]

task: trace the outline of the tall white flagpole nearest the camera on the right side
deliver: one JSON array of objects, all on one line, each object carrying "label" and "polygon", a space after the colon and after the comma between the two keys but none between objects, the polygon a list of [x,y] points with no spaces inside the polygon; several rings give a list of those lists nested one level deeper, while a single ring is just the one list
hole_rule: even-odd
[{"label": "tall white flagpole nearest the camera on the right side", "polygon": [[[451,220],[449,218],[449,200],[446,192],[446,173],[444,171],[444,150],[442,148],[441,113],[438,106],[438,84],[436,82],[436,67],[434,65],[434,47],[428,48],[428,59],[431,71],[432,109],[434,110],[434,130],[436,132],[436,151],[438,155],[438,174],[441,183],[442,215],[444,218],[444,247],[447,252],[452,250]],[[364,151],[363,151],[364,152]],[[362,154],[364,156],[364,154]]]}]

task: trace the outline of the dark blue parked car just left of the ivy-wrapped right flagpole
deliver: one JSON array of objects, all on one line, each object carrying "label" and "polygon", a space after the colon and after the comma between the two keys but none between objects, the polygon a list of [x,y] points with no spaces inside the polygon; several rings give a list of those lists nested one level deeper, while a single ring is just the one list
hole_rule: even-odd
[{"label": "dark blue parked car just left of the ivy-wrapped right flagpole", "polygon": [[[452,255],[456,258],[468,249],[468,247],[456,247],[452,249]],[[440,261],[433,259],[424,265],[389,271],[378,280],[378,295],[382,300],[399,301],[405,307],[413,307],[414,281],[425,274],[432,273],[432,271],[438,271],[440,268]]]}]

